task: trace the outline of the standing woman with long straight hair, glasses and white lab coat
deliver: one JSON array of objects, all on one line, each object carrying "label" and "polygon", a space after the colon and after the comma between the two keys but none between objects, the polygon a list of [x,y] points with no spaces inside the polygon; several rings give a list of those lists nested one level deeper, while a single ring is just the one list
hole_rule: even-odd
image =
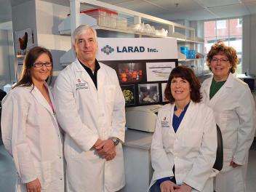
[{"label": "standing woman with long straight hair, glasses and white lab coat", "polygon": [[2,138],[17,169],[16,191],[64,191],[63,144],[47,84],[51,77],[51,53],[33,47],[20,81],[2,101]]}]

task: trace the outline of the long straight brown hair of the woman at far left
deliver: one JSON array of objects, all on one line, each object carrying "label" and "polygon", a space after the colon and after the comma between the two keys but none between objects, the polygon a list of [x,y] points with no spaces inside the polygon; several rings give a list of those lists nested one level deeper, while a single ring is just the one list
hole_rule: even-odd
[{"label": "long straight brown hair of the woman at far left", "polygon": [[[25,60],[23,62],[23,71],[21,73],[20,80],[17,82],[17,84],[15,84],[13,89],[19,86],[21,87],[31,87],[31,85],[33,86],[33,81],[31,78],[31,68],[33,67],[33,63],[35,63],[38,57],[40,57],[40,55],[44,53],[48,55],[49,60],[52,63],[52,54],[51,52],[49,52],[48,49],[45,49],[44,47],[33,47],[28,51],[27,55],[25,56]],[[53,66],[53,63],[52,63],[52,66]],[[47,81],[49,81],[49,84],[51,84],[52,82],[52,71],[53,71],[53,67],[49,77],[47,78]]]}]

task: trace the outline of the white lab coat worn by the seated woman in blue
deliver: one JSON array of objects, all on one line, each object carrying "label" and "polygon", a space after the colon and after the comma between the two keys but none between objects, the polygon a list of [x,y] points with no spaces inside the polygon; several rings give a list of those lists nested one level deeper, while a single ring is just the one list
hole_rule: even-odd
[{"label": "white lab coat worn by the seated woman in blue", "polygon": [[151,185],[160,178],[173,176],[175,164],[177,185],[187,183],[193,191],[213,191],[217,129],[212,109],[191,100],[175,133],[172,127],[174,107],[167,104],[158,112],[151,143],[154,169]]}]

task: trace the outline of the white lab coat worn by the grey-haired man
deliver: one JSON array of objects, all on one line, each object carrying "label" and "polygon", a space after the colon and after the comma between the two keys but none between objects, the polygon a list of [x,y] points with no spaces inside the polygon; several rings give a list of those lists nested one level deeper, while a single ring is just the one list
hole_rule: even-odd
[{"label": "white lab coat worn by the grey-haired man", "polygon": [[100,158],[92,146],[98,138],[124,142],[124,96],[116,71],[100,63],[97,89],[78,60],[60,72],[55,82],[57,119],[65,131],[68,191],[102,192],[124,187],[121,143],[111,161]]}]

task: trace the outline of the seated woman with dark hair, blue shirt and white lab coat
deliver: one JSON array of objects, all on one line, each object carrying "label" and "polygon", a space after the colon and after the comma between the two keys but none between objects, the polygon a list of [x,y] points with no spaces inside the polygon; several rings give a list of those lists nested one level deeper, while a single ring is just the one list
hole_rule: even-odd
[{"label": "seated woman with dark hair, blue shirt and white lab coat", "polygon": [[172,70],[151,144],[151,192],[213,191],[217,132],[213,111],[201,103],[200,83],[185,66]]}]

